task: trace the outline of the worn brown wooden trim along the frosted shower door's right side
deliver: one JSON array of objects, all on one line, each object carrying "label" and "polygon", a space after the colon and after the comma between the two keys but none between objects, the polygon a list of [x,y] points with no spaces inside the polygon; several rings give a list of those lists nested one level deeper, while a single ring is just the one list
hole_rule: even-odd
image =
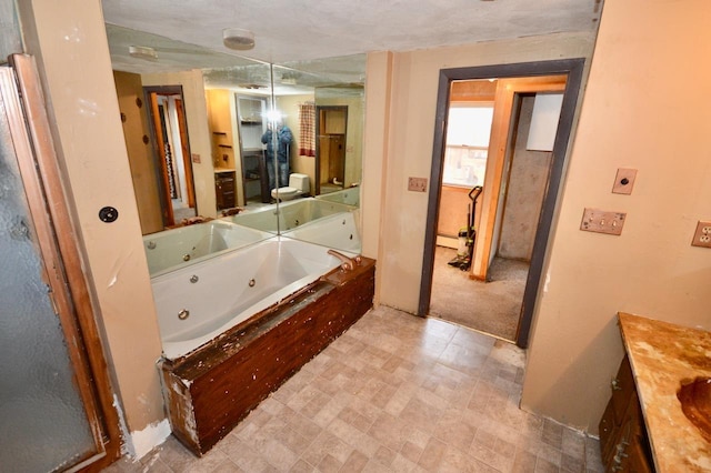
[{"label": "worn brown wooden trim along the frosted shower door's right side", "polygon": [[[27,138],[14,142],[20,173],[44,275],[64,331],[97,447],[91,456],[82,459],[82,470],[99,471],[120,456],[121,446],[119,415],[113,405],[108,364],[76,243],[77,232],[67,207],[57,151],[49,132],[37,66],[32,57],[23,54],[11,56],[10,63],[16,70],[14,79],[22,103],[22,110],[14,110],[9,117],[10,125],[13,133]],[[3,82],[9,76],[2,76]],[[9,84],[4,82],[3,85]],[[6,100],[6,103],[10,102]],[[22,143],[31,143],[32,149]]]}]

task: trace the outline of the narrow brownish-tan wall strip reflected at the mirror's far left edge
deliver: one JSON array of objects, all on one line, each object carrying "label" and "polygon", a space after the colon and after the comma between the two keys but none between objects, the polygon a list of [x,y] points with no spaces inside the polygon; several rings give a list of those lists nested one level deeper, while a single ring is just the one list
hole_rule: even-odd
[{"label": "narrow brownish-tan wall strip reflected at the mirror's far left edge", "polygon": [[153,149],[143,142],[149,137],[148,115],[146,109],[138,105],[137,99],[143,102],[143,84],[139,74],[113,72],[116,91],[119,99],[123,121],[123,137],[129,153],[133,193],[138,205],[139,219],[143,234],[163,230],[160,212],[158,175],[153,163]]}]

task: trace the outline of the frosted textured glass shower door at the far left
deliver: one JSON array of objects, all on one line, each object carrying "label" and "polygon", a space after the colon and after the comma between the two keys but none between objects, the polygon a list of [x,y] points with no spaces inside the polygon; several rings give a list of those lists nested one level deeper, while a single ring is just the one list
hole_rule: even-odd
[{"label": "frosted textured glass shower door at the far left", "polygon": [[12,70],[0,68],[0,470],[63,471],[102,456],[103,443],[68,348],[81,341],[68,345],[51,299],[54,273],[40,255],[18,164],[29,140],[12,128],[13,89]]}]

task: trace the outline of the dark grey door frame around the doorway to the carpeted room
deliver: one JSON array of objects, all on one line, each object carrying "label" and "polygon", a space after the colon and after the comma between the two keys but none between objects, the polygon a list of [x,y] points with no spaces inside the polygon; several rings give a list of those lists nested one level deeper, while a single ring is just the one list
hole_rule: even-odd
[{"label": "dark grey door frame around the doorway to the carpeted room", "polygon": [[549,183],[545,195],[543,197],[543,205],[541,208],[541,214],[535,231],[533,253],[523,293],[521,320],[515,336],[515,343],[518,346],[528,346],[534,305],[540,288],[543,263],[547,256],[551,224],[558,207],[558,195],[563,179],[563,170],[565,169],[568,161],[569,141],[572,133],[573,119],[582,83],[584,63],[585,60],[583,58],[574,58],[440,70],[418,315],[425,316],[430,309],[432,272],[434,268],[434,248],[437,243],[437,221],[439,218],[442,169],[444,165],[444,147],[447,143],[447,117],[449,113],[449,99],[452,81],[565,74],[568,76],[568,80],[565,91],[563,93],[563,103],[558,123],[558,132],[555,134],[551,155]]}]

